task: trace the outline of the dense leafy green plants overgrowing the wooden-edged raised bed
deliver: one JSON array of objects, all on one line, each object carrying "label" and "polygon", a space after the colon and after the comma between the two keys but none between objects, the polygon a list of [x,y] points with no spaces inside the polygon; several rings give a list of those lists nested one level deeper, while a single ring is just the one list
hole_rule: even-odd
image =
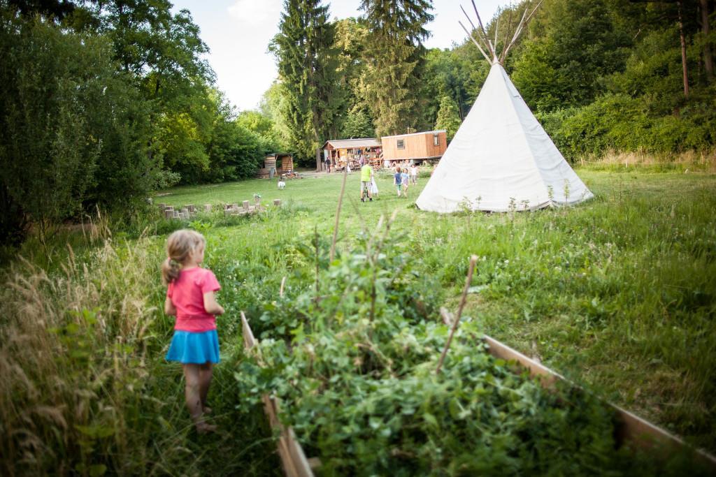
[{"label": "dense leafy green plants overgrowing the wooden-edged raised bed", "polygon": [[364,235],[330,264],[320,243],[315,249],[314,289],[266,304],[267,338],[236,378],[246,405],[263,394],[281,398],[281,420],[319,456],[320,475],[663,470],[663,462],[616,450],[614,410],[593,395],[563,384],[543,390],[485,353],[474,321],[436,374],[448,329],[423,300],[437,283],[415,272],[420,260],[404,241]]}]

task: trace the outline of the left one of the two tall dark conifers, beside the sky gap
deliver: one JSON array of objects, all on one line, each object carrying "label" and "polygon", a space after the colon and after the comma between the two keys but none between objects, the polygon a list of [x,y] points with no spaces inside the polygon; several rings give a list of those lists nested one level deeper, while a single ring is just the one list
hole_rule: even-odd
[{"label": "left one of the two tall dark conifers, beside the sky gap", "polygon": [[304,164],[313,163],[321,142],[336,133],[334,35],[329,7],[321,5],[321,0],[284,1],[279,34],[271,49],[279,60],[279,79],[286,95],[281,114]]}]

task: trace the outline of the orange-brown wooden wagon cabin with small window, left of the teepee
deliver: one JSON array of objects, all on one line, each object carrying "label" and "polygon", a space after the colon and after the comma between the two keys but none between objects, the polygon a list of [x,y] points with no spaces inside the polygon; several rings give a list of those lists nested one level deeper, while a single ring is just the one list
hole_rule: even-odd
[{"label": "orange-brown wooden wagon cabin with small window, left of the teepee", "polygon": [[437,161],[448,149],[448,137],[445,129],[437,131],[414,132],[398,136],[380,138],[383,146],[383,159],[388,162],[412,161],[420,164],[423,161]]}]

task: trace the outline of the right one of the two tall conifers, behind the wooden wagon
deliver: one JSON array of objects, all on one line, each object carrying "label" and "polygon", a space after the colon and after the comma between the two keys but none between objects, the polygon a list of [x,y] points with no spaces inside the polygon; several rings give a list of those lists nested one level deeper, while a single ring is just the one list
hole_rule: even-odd
[{"label": "right one of the two tall conifers, behind the wooden wagon", "polygon": [[421,41],[430,33],[430,0],[362,0],[360,9],[369,29],[365,46],[362,94],[375,119],[378,136],[400,134],[415,126]]}]

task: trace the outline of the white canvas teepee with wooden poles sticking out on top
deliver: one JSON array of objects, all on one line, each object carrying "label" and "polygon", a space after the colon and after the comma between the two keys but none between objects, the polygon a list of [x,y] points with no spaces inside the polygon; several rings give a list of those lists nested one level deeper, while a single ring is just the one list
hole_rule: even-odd
[{"label": "white canvas teepee with wooden poles sticking out on top", "polygon": [[473,36],[470,39],[492,68],[468,117],[417,198],[417,207],[432,212],[465,209],[507,212],[571,205],[594,197],[564,160],[502,67],[501,62],[526,23],[525,16],[499,59],[484,34],[479,15],[478,22],[483,31],[478,38],[492,59]]}]

